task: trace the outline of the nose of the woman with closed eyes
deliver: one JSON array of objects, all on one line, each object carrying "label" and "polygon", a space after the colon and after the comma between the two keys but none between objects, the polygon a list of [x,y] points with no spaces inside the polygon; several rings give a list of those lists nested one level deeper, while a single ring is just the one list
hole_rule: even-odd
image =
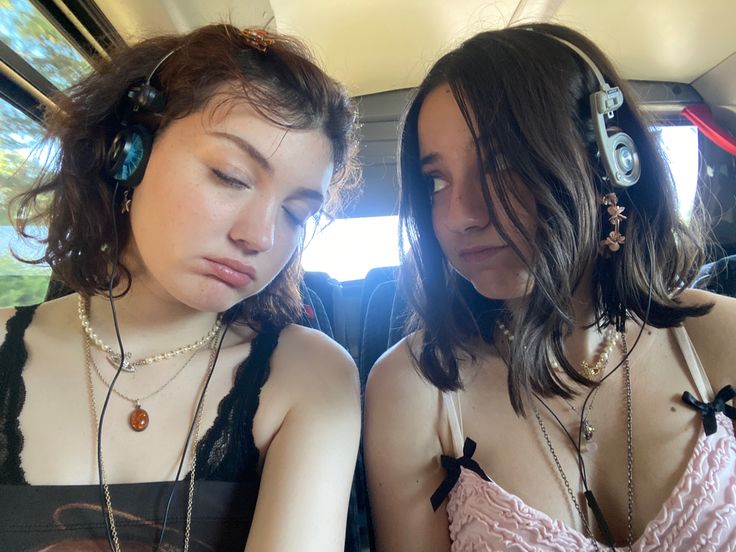
[{"label": "nose of the woman with closed eyes", "polygon": [[252,198],[237,214],[230,238],[249,251],[264,252],[273,247],[280,206],[274,197]]}]

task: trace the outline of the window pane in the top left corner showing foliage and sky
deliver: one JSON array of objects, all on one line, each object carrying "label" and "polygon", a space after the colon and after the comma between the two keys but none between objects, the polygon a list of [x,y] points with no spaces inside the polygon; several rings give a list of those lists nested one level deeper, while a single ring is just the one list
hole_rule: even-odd
[{"label": "window pane in the top left corner showing foliage and sky", "polygon": [[29,0],[0,0],[0,40],[64,90],[90,65]]}]

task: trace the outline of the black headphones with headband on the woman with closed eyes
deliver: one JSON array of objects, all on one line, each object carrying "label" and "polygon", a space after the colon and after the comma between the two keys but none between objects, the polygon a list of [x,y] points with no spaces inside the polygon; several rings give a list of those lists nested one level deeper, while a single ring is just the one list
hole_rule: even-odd
[{"label": "black headphones with headband on the woman with closed eyes", "polygon": [[120,120],[121,128],[113,137],[105,155],[105,173],[126,188],[135,188],[143,180],[153,147],[151,130],[141,124],[130,124],[131,119],[139,111],[161,113],[164,110],[164,94],[151,84],[151,79],[177,49],[161,58],[145,82],[131,87],[123,99],[125,106]]}]

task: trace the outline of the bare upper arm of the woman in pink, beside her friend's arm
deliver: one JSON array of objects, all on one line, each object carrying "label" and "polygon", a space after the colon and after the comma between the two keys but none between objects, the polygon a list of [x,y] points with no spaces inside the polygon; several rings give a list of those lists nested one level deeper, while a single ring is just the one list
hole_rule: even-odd
[{"label": "bare upper arm of the woman in pink, beside her friend's arm", "polygon": [[445,505],[435,512],[429,502],[445,476],[439,402],[411,365],[405,341],[371,370],[364,446],[379,552],[450,550]]}]

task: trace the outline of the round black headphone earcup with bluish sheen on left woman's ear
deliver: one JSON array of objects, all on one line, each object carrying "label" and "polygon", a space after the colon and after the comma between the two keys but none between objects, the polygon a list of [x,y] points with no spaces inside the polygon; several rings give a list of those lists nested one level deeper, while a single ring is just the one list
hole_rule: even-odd
[{"label": "round black headphone earcup with bluish sheen on left woman's ear", "polygon": [[112,140],[107,152],[105,170],[121,185],[134,188],[143,180],[153,137],[140,125],[124,127]]}]

